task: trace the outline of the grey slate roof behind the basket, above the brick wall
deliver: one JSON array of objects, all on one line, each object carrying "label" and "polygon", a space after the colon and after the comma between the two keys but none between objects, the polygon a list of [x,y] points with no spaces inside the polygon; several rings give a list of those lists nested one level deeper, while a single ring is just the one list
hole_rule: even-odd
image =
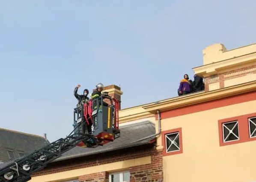
[{"label": "grey slate roof behind the basket, above the brick wall", "polygon": [[[61,157],[53,162],[143,145],[156,138],[153,136],[155,134],[155,124],[153,124],[151,121],[143,121],[140,123],[122,126],[120,127],[120,133],[120,137],[115,139],[114,142],[109,142],[103,146],[98,146],[95,148],[74,147],[73,149],[63,153]],[[143,139],[148,136],[151,137]]]}]

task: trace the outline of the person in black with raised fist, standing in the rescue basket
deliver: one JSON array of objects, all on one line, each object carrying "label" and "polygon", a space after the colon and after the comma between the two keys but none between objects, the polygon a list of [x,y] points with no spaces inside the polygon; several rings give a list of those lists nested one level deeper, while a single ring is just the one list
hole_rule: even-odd
[{"label": "person in black with raised fist, standing in the rescue basket", "polygon": [[[83,115],[83,106],[84,104],[88,104],[89,102],[89,98],[87,97],[87,95],[89,94],[89,90],[85,89],[83,90],[83,95],[79,95],[77,94],[77,90],[78,88],[81,87],[80,84],[78,84],[75,88],[74,88],[74,96],[75,98],[77,98],[77,107],[79,108],[79,115],[82,116]],[[84,131],[87,133],[91,133],[92,132],[92,122],[89,121],[89,124],[85,121],[85,117],[82,117],[82,122],[85,123],[85,127],[84,127]]]}]

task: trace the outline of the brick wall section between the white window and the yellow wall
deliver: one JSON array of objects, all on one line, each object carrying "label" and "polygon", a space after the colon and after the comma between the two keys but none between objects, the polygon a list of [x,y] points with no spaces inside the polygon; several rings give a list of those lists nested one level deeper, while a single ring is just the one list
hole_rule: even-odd
[{"label": "brick wall section between the white window and the yellow wall", "polygon": [[163,156],[158,151],[151,156],[151,164],[130,168],[131,182],[163,182]]}]

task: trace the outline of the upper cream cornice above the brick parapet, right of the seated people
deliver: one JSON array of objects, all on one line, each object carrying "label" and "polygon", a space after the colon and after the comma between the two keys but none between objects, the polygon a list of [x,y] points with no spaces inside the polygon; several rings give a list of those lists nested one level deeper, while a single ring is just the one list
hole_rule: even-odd
[{"label": "upper cream cornice above the brick parapet, right of the seated people", "polygon": [[207,77],[210,75],[216,75],[217,72],[223,69],[227,69],[230,67],[235,67],[238,65],[250,64],[251,62],[255,62],[256,60],[256,52],[252,52],[247,55],[242,55],[235,58],[230,58],[227,60],[219,61],[212,64],[206,64],[204,66],[199,66],[193,68],[193,71],[196,75]]}]

